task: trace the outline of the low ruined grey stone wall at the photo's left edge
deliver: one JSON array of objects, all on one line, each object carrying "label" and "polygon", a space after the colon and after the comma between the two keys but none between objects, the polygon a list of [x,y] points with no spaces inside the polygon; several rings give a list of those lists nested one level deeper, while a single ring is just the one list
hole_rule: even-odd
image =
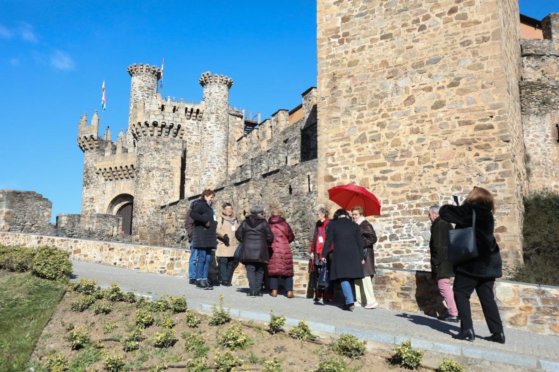
[{"label": "low ruined grey stone wall at the photo's left edge", "polygon": [[52,207],[34,191],[0,189],[0,231],[53,233]]}]

